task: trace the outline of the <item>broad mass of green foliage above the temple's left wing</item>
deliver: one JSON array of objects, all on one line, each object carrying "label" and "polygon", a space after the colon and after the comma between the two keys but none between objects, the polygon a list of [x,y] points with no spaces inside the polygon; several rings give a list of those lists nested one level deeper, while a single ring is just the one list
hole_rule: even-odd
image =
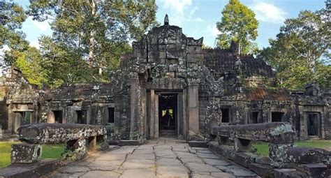
[{"label": "broad mass of green foliage above the temple's left wing", "polygon": [[[105,80],[120,56],[156,24],[155,1],[31,0],[29,15],[50,23],[52,38],[41,38],[45,68],[53,85]],[[61,67],[54,71],[52,66]],[[66,71],[63,73],[63,71]],[[98,75],[97,75],[98,74]]]}]

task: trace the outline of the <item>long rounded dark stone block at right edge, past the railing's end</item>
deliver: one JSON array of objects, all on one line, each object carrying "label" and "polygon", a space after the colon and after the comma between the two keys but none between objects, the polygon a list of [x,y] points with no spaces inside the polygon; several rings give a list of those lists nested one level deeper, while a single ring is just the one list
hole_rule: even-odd
[{"label": "long rounded dark stone block at right edge, past the railing's end", "polygon": [[318,148],[294,147],[287,151],[288,160],[294,163],[321,163],[328,161],[329,151]]}]

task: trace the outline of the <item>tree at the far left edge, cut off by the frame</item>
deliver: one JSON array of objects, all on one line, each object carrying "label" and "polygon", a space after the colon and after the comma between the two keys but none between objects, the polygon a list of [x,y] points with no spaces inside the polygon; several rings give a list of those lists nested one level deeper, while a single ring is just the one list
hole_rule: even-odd
[{"label": "tree at the far left edge, cut off by the frame", "polygon": [[[15,54],[27,50],[29,43],[24,40],[25,35],[20,31],[26,18],[22,6],[14,2],[0,2],[0,59],[4,60],[1,65],[14,64]],[[3,47],[8,47],[9,50],[1,54]]]}]

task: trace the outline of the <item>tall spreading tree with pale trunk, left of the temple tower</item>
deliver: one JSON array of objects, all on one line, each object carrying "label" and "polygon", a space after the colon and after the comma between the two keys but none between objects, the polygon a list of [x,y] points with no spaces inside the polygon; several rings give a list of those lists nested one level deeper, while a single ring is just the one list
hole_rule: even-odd
[{"label": "tall spreading tree with pale trunk, left of the temple tower", "polygon": [[34,19],[53,20],[49,42],[75,54],[75,60],[87,61],[89,70],[96,68],[99,75],[115,68],[108,64],[128,52],[128,40],[140,39],[156,22],[154,0],[30,2],[28,13]]}]

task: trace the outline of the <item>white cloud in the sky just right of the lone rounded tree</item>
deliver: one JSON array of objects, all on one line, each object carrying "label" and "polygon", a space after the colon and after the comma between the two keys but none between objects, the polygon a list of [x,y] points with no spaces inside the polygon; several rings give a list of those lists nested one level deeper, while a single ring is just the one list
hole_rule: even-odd
[{"label": "white cloud in the sky just right of the lone rounded tree", "polygon": [[272,3],[254,1],[251,8],[256,13],[256,19],[261,22],[282,23],[286,19],[286,12]]}]

